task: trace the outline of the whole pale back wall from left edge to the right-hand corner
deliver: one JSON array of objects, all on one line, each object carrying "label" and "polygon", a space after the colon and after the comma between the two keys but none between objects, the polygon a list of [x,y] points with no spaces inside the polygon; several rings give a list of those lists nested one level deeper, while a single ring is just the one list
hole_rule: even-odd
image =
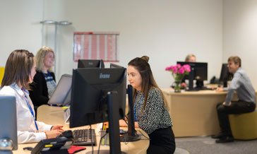
[{"label": "whole pale back wall from left edge to the right-hand corner", "polygon": [[73,24],[57,27],[57,79],[77,66],[72,49],[76,31],[120,32],[117,64],[126,66],[148,55],[162,88],[173,81],[165,67],[183,61],[186,54],[208,62],[209,80],[220,73],[222,0],[10,0],[1,1],[0,19],[0,66],[14,49],[34,54],[42,45],[54,49],[54,25],[42,28],[40,21],[68,20]]}]

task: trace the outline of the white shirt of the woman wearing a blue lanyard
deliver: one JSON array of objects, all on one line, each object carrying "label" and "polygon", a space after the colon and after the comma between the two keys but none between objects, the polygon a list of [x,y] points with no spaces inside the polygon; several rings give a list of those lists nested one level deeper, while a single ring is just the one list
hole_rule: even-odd
[{"label": "white shirt of the woman wearing a blue lanyard", "polygon": [[37,127],[39,130],[37,131],[34,117],[32,116],[32,113],[30,112],[28,104],[25,100],[26,95],[35,114],[34,105],[32,104],[30,96],[27,93],[23,93],[23,90],[21,90],[16,83],[13,83],[12,85],[4,86],[0,90],[0,95],[16,97],[18,143],[32,143],[46,139],[44,131],[50,131],[52,125],[37,122]]}]

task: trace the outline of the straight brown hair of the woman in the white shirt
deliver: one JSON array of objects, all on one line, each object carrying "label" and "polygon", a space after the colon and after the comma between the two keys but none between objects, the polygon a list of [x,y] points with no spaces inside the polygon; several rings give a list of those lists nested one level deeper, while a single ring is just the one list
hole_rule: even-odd
[{"label": "straight brown hair of the woman in the white shirt", "polygon": [[11,52],[6,61],[1,86],[4,87],[5,85],[16,83],[29,90],[30,71],[34,64],[33,57],[34,55],[25,49],[17,49]]}]

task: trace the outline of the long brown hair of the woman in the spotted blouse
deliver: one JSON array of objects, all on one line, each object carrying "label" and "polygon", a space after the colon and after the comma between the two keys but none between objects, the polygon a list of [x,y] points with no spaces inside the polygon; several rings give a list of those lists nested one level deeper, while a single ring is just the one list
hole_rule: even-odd
[{"label": "long brown hair of the woman in the spotted blouse", "polygon": [[[141,85],[141,90],[144,95],[144,105],[143,109],[145,109],[145,105],[148,101],[148,92],[151,88],[160,88],[158,87],[157,83],[155,82],[155,78],[153,78],[153,73],[151,71],[150,65],[148,64],[149,57],[143,56],[141,58],[136,57],[135,59],[132,59],[129,61],[128,66],[133,66],[135,67],[136,70],[139,71],[141,78],[142,78],[142,85]],[[162,92],[162,90],[160,90]],[[167,101],[165,99],[165,96],[162,93],[162,97],[165,102],[165,107],[167,106]],[[133,100],[136,100],[136,90],[133,89]]]}]

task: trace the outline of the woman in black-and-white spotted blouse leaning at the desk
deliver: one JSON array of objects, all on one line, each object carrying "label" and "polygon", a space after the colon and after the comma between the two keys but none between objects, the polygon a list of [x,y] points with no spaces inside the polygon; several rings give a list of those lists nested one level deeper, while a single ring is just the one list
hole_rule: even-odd
[{"label": "woman in black-and-white spotted blouse leaning at the desk", "polygon": [[[174,153],[176,148],[167,101],[153,78],[149,57],[128,63],[128,81],[133,87],[135,126],[150,137],[147,153]],[[120,126],[126,124],[120,121]]]}]

